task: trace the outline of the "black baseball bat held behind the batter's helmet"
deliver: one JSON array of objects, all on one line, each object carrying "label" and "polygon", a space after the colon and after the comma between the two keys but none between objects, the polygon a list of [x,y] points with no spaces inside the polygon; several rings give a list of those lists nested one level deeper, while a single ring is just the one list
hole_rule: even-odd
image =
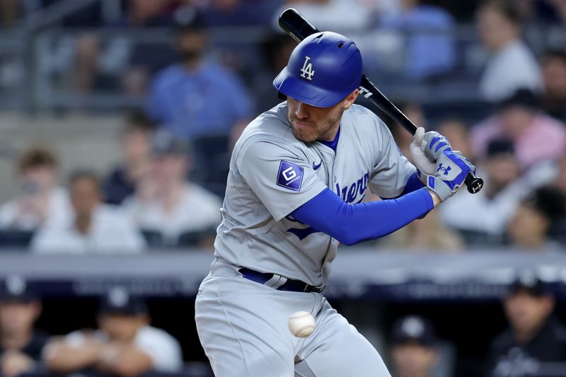
[{"label": "black baseball bat held behind the batter's helmet", "polygon": [[[297,42],[301,42],[301,40],[304,40],[308,35],[319,32],[317,28],[306,21],[301,13],[297,12],[294,8],[289,8],[281,13],[281,16],[279,16],[279,26]],[[369,81],[365,74],[362,74],[359,93],[363,95],[364,98],[370,100],[371,103],[376,105],[381,111],[389,115],[392,120],[403,126],[408,132],[413,135],[415,134],[417,126],[415,126],[401,110],[393,105],[393,103],[379,91],[374,83]],[[466,176],[464,183],[468,186],[468,192],[472,194],[479,192],[483,187],[483,179],[475,177],[472,173]]]}]

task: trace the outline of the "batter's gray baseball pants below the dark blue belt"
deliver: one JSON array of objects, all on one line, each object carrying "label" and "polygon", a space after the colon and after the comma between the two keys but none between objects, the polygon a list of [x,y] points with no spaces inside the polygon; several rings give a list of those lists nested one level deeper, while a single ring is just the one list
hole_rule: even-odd
[{"label": "batter's gray baseball pants below the dark blue belt", "polygon": [[[308,311],[309,337],[288,328]],[[391,377],[381,356],[322,294],[277,291],[216,261],[195,304],[197,331],[216,377]]]}]

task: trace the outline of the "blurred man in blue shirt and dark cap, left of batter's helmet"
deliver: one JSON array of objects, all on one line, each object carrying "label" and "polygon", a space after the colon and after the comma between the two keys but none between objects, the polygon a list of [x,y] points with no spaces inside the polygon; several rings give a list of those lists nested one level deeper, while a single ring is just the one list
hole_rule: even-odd
[{"label": "blurred man in blue shirt and dark cap, left of batter's helmet", "polygon": [[204,59],[207,25],[200,13],[179,16],[176,47],[182,62],[151,83],[146,110],[181,139],[239,135],[253,106],[238,77]]}]

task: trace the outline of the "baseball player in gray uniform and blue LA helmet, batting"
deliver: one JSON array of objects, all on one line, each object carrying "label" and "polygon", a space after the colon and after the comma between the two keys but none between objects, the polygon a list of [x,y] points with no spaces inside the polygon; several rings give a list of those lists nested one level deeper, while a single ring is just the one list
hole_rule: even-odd
[{"label": "baseball player in gray uniform and blue LA helmet, batting", "polygon": [[[274,81],[287,101],[253,120],[233,149],[214,262],[195,308],[216,376],[391,376],[322,294],[337,245],[426,215],[475,168],[420,128],[417,170],[386,125],[354,105],[361,78],[352,40],[307,37]],[[368,190],[384,200],[362,203]],[[296,311],[316,319],[309,337],[289,332]]]}]

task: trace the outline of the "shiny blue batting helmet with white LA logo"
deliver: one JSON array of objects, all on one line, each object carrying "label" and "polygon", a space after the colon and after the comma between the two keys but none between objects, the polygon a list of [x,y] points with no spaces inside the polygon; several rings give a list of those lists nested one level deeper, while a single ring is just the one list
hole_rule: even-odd
[{"label": "shiny blue batting helmet with white LA logo", "polygon": [[362,54],[350,38],[325,31],[306,37],[291,53],[273,86],[284,95],[330,108],[347,97],[362,80]]}]

